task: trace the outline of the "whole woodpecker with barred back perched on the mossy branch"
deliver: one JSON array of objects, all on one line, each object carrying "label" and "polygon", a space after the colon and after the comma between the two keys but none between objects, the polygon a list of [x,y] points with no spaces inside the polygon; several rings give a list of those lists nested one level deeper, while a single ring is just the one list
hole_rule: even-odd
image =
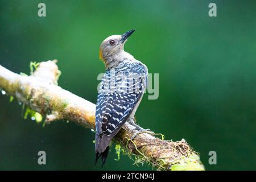
[{"label": "whole woodpecker with barred back perched on the mossy branch", "polygon": [[112,35],[100,45],[100,59],[106,72],[102,77],[96,104],[96,162],[102,167],[108,156],[109,144],[123,124],[134,124],[134,114],[147,86],[147,67],[123,47],[135,30]]}]

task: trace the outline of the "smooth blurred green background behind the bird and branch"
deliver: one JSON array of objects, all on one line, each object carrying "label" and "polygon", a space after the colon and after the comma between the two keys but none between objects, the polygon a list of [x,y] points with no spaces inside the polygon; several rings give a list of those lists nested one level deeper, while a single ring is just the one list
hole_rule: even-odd
[{"label": "smooth blurred green background behind the bird and branch", "polygon": [[[38,3],[47,16],[38,17]],[[208,16],[210,2],[217,17]],[[135,28],[125,49],[159,73],[159,98],[143,98],[137,121],[185,138],[208,170],[256,169],[255,1],[0,1],[0,64],[29,73],[30,61],[59,60],[59,85],[96,102],[98,48],[109,35]],[[46,127],[22,118],[0,96],[0,169],[144,170],[114,147],[94,167],[94,134],[75,123]],[[47,154],[39,166],[38,151]],[[208,152],[217,152],[217,165]]]}]

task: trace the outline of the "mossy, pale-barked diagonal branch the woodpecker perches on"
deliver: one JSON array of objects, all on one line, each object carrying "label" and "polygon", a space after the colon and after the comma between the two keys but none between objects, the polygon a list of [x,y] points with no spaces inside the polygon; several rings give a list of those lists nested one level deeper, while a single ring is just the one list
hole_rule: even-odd
[{"label": "mossy, pale-barked diagonal branch the woodpecker perches on", "polygon": [[[0,65],[0,89],[42,114],[46,123],[68,120],[94,129],[96,105],[57,86],[60,71],[56,62],[33,64],[37,68],[30,76],[18,75]],[[199,155],[184,139],[172,142],[152,133],[140,133],[131,139],[135,133],[137,129],[126,122],[114,138],[135,164],[147,162],[159,170],[204,170]]]}]

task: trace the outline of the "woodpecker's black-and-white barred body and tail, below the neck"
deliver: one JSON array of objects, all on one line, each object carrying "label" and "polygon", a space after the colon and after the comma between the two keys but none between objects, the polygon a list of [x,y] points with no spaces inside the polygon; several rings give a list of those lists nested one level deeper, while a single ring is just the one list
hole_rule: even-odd
[{"label": "woodpecker's black-and-white barred body and tail, below the neck", "polygon": [[106,70],[96,105],[96,162],[102,165],[112,138],[123,123],[134,117],[147,85],[147,67],[137,60],[123,60]]}]

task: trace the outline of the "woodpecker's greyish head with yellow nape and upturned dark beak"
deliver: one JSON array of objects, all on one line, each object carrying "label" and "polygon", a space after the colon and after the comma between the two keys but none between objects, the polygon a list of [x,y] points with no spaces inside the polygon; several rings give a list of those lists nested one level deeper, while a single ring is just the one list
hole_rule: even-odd
[{"label": "woodpecker's greyish head with yellow nape and upturned dark beak", "polygon": [[111,68],[125,58],[126,52],[123,46],[127,38],[133,34],[135,30],[130,30],[122,35],[112,35],[106,38],[100,46],[100,59],[104,61],[106,68]]}]

